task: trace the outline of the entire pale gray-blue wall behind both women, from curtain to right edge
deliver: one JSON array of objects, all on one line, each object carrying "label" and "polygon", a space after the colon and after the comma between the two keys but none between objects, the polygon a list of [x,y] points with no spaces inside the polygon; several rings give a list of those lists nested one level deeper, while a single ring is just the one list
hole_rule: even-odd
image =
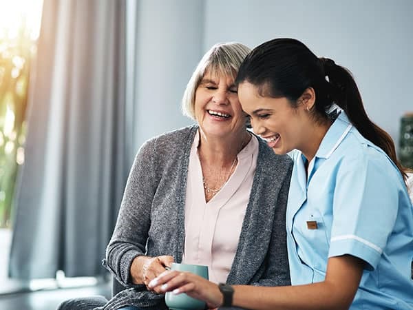
[{"label": "entire pale gray-blue wall behind both women, from curtain to right edge", "polygon": [[411,0],[140,0],[137,12],[135,147],[191,123],[180,114],[182,92],[219,41],[253,48],[295,37],[335,59],[352,71],[368,114],[396,145],[399,118],[413,111]]}]

